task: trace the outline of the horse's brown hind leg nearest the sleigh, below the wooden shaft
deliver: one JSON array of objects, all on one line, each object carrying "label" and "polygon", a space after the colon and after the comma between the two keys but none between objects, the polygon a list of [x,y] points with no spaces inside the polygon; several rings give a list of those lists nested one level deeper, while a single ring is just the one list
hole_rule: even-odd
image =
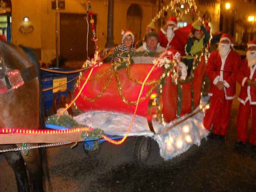
[{"label": "horse's brown hind leg nearest the sleigh, below the wooden shaft", "polygon": [[[35,146],[37,144],[29,144],[27,146]],[[26,153],[26,151],[24,151]],[[40,153],[39,149],[29,149],[28,155],[26,156],[23,152],[21,152],[24,161],[26,162],[26,169],[28,171],[28,178],[31,187],[31,191],[33,192],[44,192],[43,185],[43,170],[40,161]]]}]

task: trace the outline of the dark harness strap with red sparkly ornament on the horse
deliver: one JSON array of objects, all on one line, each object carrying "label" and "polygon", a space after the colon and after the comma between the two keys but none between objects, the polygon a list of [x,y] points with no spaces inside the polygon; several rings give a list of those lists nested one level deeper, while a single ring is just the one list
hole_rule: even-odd
[{"label": "dark harness strap with red sparkly ornament on the horse", "polygon": [[0,94],[9,93],[35,77],[37,77],[35,65],[26,69],[14,70],[6,67],[4,60],[0,57]]}]

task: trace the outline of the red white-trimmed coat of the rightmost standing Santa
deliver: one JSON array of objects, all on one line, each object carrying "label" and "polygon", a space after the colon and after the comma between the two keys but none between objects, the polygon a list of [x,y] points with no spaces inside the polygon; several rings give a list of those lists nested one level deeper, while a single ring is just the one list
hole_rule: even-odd
[{"label": "red white-trimmed coat of the rightmost standing Santa", "polygon": [[247,59],[242,61],[240,70],[237,73],[237,81],[241,84],[241,91],[238,100],[245,105],[249,100],[251,105],[256,105],[256,86],[248,86],[246,80],[249,78],[251,80],[256,79],[256,65],[253,67],[248,66]]}]

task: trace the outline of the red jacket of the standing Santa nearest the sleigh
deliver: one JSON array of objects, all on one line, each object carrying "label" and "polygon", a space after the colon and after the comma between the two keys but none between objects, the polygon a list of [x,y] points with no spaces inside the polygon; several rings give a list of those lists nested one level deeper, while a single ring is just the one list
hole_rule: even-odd
[{"label": "red jacket of the standing Santa nearest the sleigh", "polygon": [[236,74],[240,65],[241,57],[235,51],[230,50],[224,64],[222,64],[219,51],[213,51],[206,66],[206,73],[211,81],[208,95],[212,96],[219,90],[216,86],[218,81],[224,81],[225,98],[234,99],[236,95]]}]

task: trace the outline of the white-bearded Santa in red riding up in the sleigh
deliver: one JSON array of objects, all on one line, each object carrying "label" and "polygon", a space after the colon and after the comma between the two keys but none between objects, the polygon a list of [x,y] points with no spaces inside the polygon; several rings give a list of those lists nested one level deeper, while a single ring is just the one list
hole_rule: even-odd
[{"label": "white-bearded Santa in red riding up in the sleigh", "polygon": [[174,48],[185,55],[185,45],[187,44],[187,34],[180,31],[177,27],[178,22],[176,17],[170,17],[167,20],[167,25],[164,26],[158,33],[159,43],[162,47]]}]

